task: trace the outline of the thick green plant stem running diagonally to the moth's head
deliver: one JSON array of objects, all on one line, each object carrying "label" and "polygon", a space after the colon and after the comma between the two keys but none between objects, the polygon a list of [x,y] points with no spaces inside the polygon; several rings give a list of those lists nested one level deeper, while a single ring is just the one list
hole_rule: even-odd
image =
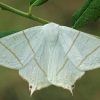
[{"label": "thick green plant stem running diagonally to the moth's head", "polygon": [[15,13],[15,14],[17,14],[17,15],[20,15],[20,16],[23,16],[23,17],[26,17],[26,18],[35,20],[35,21],[37,21],[37,22],[40,22],[40,23],[42,23],[42,24],[47,24],[47,23],[49,23],[49,21],[46,21],[46,20],[44,20],[44,19],[41,19],[41,18],[38,18],[38,17],[36,17],[36,16],[30,15],[30,14],[28,14],[28,13],[22,12],[22,11],[20,11],[20,10],[18,10],[18,9],[15,9],[15,8],[13,8],[13,7],[10,7],[10,6],[8,6],[8,5],[4,4],[4,3],[1,3],[1,2],[0,2],[0,7],[2,8],[2,10],[10,11],[10,12]]}]

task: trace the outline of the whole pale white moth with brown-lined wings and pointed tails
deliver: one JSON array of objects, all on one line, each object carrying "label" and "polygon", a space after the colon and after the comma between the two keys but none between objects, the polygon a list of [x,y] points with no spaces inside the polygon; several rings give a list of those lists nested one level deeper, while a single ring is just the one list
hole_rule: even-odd
[{"label": "whole pale white moth with brown-lined wings and pointed tails", "polygon": [[55,23],[0,39],[0,66],[19,70],[31,94],[50,85],[70,90],[85,71],[100,67],[100,39]]}]

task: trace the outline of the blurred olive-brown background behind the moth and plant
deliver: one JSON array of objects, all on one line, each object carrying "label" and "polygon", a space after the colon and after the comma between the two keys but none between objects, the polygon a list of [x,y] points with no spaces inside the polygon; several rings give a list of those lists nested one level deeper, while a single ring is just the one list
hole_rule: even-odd
[{"label": "blurred olive-brown background behind the moth and plant", "polygon": [[[33,14],[50,22],[72,27],[72,15],[84,1],[49,0],[41,6],[34,7]],[[0,2],[28,12],[29,0],[0,0]],[[22,30],[36,25],[41,23],[0,10],[0,31]],[[100,20],[91,22],[79,30],[100,36]],[[18,75],[18,71],[0,66],[0,100],[100,100],[100,69],[86,72],[76,82],[73,96],[68,90],[50,86],[36,91],[30,97],[28,83]]]}]

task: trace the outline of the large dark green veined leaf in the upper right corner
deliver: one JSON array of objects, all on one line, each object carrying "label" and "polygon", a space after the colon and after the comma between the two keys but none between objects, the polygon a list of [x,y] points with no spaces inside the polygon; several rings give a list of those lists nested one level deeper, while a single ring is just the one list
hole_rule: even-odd
[{"label": "large dark green veined leaf in the upper right corner", "polygon": [[97,21],[100,18],[100,0],[86,0],[83,6],[73,14],[73,28],[81,28],[90,21]]}]

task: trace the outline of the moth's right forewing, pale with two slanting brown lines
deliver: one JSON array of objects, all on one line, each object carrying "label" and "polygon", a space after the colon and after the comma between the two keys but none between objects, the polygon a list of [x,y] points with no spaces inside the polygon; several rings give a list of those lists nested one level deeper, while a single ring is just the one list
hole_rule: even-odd
[{"label": "moth's right forewing, pale with two slanting brown lines", "polygon": [[71,62],[81,71],[99,68],[100,39],[69,27],[61,26],[61,29],[60,40]]}]

